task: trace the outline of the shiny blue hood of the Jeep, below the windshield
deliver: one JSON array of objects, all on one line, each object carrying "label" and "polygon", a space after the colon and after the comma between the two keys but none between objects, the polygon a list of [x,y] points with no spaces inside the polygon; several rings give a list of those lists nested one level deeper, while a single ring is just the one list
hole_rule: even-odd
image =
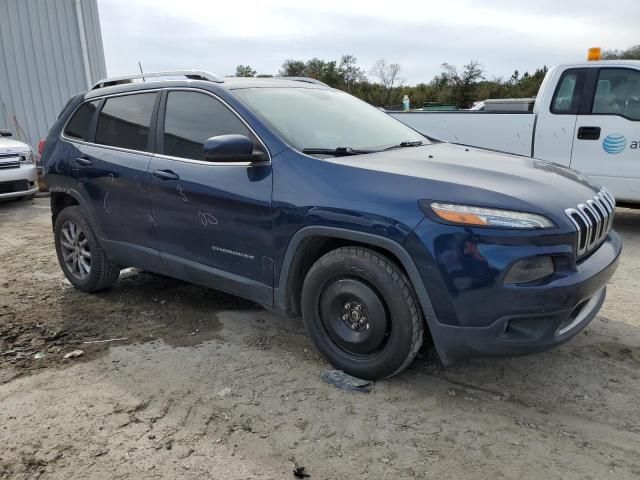
[{"label": "shiny blue hood of the Jeep, below the windshield", "polygon": [[427,200],[562,216],[566,208],[575,207],[599,190],[580,173],[555,163],[449,143],[333,161],[424,179],[421,195]]}]

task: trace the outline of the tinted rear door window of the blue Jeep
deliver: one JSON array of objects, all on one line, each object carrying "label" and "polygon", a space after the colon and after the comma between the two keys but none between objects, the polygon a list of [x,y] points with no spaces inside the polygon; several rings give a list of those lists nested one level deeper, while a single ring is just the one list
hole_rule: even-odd
[{"label": "tinted rear door window of the blue Jeep", "polygon": [[96,143],[149,151],[149,130],[157,97],[154,92],[107,98],[98,116]]}]

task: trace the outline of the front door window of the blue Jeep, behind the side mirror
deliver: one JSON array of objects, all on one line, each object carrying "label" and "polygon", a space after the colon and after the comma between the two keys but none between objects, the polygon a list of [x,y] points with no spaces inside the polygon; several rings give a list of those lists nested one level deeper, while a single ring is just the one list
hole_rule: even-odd
[{"label": "front door window of the blue Jeep, behind the side mirror", "polygon": [[204,143],[211,137],[235,133],[253,138],[242,121],[210,95],[169,92],[165,112],[165,155],[204,160]]}]

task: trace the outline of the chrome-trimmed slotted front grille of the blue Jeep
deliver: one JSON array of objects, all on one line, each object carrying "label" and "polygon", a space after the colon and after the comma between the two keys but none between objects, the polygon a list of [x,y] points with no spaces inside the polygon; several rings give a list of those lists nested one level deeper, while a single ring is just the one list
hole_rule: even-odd
[{"label": "chrome-trimmed slotted front grille of the blue Jeep", "polygon": [[613,224],[616,200],[606,188],[576,208],[567,208],[565,213],[578,230],[576,253],[586,255],[606,238]]}]

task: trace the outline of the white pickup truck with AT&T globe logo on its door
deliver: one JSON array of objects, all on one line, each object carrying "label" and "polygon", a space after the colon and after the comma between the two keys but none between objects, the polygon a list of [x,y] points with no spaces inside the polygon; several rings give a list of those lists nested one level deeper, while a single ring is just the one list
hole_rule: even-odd
[{"label": "white pickup truck with AT&T globe logo on its door", "polygon": [[429,137],[570,166],[640,203],[640,61],[559,65],[532,112],[389,112]]}]

